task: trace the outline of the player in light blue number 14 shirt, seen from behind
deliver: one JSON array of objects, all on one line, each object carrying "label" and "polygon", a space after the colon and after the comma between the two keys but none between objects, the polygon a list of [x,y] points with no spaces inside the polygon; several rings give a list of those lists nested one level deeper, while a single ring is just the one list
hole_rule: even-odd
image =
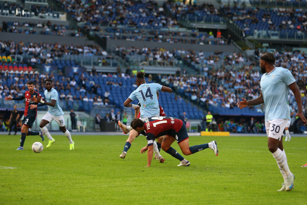
[{"label": "player in light blue number 14 shirt, seen from behind", "polygon": [[[158,103],[158,98],[157,98],[157,91],[170,93],[172,92],[172,89],[166,86],[162,86],[157,83],[149,83],[149,84],[146,83],[144,72],[141,72],[141,71],[138,72],[136,74],[136,77],[137,77],[136,84],[138,88],[130,94],[128,99],[124,102],[124,106],[127,108],[132,107],[134,109],[140,108],[140,111],[141,111],[140,119],[143,121],[145,121],[147,117],[160,116],[160,108],[159,108],[159,103]],[[138,99],[140,104],[142,104],[141,107],[135,104],[131,104],[131,102],[134,101],[135,99]],[[119,124],[119,127],[122,128],[122,131],[125,134],[133,130],[131,126],[126,126],[122,124],[120,121],[118,121],[118,124]],[[133,135],[136,135],[136,132],[134,132]],[[129,149],[131,144],[127,142],[125,146],[127,146],[127,148]],[[153,142],[153,149],[154,149],[154,152],[157,154],[157,156],[160,157],[161,155],[159,153],[156,141]],[[123,151],[122,157],[125,157],[123,156],[124,154],[126,156],[125,150]],[[161,162],[161,160],[159,161]]]}]

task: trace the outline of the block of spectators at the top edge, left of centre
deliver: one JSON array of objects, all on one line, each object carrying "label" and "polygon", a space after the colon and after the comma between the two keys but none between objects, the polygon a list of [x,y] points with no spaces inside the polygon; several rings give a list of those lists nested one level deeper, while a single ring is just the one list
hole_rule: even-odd
[{"label": "block of spectators at the top edge, left of centre", "polygon": [[176,20],[165,15],[162,6],[155,1],[72,1],[61,0],[66,12],[72,14],[77,22],[101,24],[116,27],[118,25],[137,26],[139,28],[178,27]]}]

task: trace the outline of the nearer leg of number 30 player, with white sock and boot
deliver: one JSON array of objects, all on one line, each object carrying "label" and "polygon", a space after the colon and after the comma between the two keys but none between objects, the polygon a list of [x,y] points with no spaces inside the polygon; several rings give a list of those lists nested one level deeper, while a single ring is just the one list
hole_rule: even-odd
[{"label": "nearer leg of number 30 player, with white sock and boot", "polygon": [[294,188],[293,182],[295,177],[289,169],[286,153],[283,150],[282,138],[281,140],[278,140],[272,137],[268,137],[268,148],[270,152],[272,152],[272,155],[274,156],[279,169],[282,169],[282,171],[284,171],[286,174],[286,191],[292,190]]}]

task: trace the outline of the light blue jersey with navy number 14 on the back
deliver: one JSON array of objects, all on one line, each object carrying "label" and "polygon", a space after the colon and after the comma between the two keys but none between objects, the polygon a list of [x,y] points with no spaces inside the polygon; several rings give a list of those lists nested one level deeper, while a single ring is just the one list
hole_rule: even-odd
[{"label": "light blue jersey with navy number 14 on the back", "polygon": [[152,117],[160,113],[157,91],[161,91],[162,87],[157,83],[145,83],[130,94],[128,97],[130,100],[138,99],[141,103],[141,118]]}]

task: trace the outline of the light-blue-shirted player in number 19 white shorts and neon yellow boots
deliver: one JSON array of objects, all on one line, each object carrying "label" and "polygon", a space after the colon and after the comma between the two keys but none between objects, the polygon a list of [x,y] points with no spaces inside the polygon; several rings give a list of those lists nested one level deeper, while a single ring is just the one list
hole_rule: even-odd
[{"label": "light-blue-shirted player in number 19 white shorts and neon yellow boots", "polygon": [[[45,98],[46,101],[39,100],[37,101],[41,102],[38,106],[44,106],[48,105],[48,112],[44,115],[44,117],[41,119],[41,123],[39,124],[41,131],[48,137],[48,145],[46,148],[51,147],[53,143],[55,143],[55,139],[52,138],[50,135],[48,129],[46,128],[46,125],[51,122],[52,120],[56,120],[56,123],[60,126],[61,131],[65,134],[65,136],[69,140],[69,149],[73,150],[75,148],[75,143],[72,141],[72,136],[70,135],[70,132],[65,127],[65,121],[64,121],[64,112],[59,104],[59,95],[56,91],[56,89],[52,88],[52,80],[46,79],[45,80]],[[33,104],[31,105],[30,109],[37,109],[37,105]]]}]

